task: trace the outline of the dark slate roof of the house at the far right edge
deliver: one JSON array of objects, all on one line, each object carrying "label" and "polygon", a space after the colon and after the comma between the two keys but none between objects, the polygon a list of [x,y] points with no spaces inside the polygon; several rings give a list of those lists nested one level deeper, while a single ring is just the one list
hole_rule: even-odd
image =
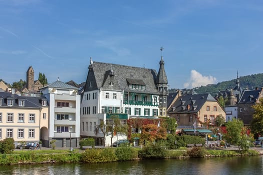
[{"label": "dark slate roof of the house at the far right edge", "polygon": [[238,101],[238,104],[254,103],[254,102],[256,102],[256,99],[259,98],[260,92],[261,92],[261,89],[244,90],[240,100]]}]

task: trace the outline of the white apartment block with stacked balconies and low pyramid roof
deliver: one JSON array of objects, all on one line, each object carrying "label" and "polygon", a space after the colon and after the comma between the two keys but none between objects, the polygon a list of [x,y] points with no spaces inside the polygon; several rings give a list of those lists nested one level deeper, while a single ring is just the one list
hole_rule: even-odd
[{"label": "white apartment block with stacked balconies and low pyramid roof", "polygon": [[80,95],[78,88],[60,80],[40,88],[49,102],[49,142],[57,147],[77,147],[80,138]]}]

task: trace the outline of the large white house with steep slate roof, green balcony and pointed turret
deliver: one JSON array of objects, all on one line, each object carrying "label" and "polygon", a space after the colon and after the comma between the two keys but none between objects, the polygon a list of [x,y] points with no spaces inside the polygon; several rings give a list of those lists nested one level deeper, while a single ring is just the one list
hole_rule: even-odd
[{"label": "large white house with steep slate roof, green balcony and pointed turret", "polygon": [[[95,128],[102,121],[112,124],[112,115],[118,115],[122,124],[129,117],[166,116],[167,84],[163,57],[158,73],[150,68],[96,62],[91,58],[81,100],[81,136],[96,138],[96,145],[110,146],[109,133],[103,139],[103,133],[96,135]],[[120,138],[126,135],[118,135]]]}]

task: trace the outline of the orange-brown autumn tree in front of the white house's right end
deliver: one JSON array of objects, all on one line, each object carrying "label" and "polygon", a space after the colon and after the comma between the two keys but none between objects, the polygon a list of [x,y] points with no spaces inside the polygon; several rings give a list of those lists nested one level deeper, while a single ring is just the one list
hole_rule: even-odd
[{"label": "orange-brown autumn tree in front of the white house's right end", "polygon": [[146,124],[142,126],[141,139],[148,140],[151,143],[166,138],[166,129],[158,127],[156,124]]}]

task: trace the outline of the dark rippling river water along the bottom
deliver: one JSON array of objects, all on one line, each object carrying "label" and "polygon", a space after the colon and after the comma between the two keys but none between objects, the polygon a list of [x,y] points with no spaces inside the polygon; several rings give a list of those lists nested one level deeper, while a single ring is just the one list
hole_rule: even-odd
[{"label": "dark rippling river water along the bottom", "polygon": [[263,156],[0,165],[0,174],[263,174]]}]

